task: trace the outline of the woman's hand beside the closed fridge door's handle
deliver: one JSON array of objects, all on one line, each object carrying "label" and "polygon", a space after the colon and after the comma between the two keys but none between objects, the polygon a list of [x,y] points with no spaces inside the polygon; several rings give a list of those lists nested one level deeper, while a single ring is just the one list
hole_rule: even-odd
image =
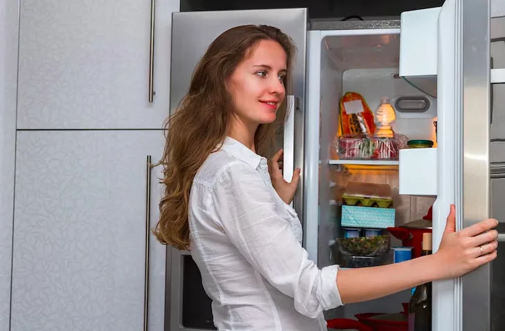
[{"label": "woman's hand beside the closed fridge door's handle", "polygon": [[270,173],[270,178],[272,179],[272,186],[274,186],[278,196],[283,199],[283,202],[290,204],[293,201],[296,186],[298,186],[298,182],[300,180],[300,168],[296,168],[294,170],[293,177],[290,182],[285,181],[281,170],[282,155],[283,150],[279,150],[274,156],[272,156],[272,159],[268,161],[268,172]]}]

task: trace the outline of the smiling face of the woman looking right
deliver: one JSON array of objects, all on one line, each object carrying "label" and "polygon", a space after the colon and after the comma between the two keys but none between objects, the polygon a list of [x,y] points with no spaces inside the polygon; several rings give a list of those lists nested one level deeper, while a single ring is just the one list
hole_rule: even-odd
[{"label": "smiling face of the woman looking right", "polygon": [[273,40],[258,42],[229,80],[235,120],[248,127],[274,122],[285,98],[285,75],[286,53],[281,45]]}]

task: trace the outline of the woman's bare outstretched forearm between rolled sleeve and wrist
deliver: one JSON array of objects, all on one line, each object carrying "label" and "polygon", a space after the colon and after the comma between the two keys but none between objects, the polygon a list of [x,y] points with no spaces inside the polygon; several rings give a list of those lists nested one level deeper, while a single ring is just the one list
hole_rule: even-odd
[{"label": "woman's bare outstretched forearm between rolled sleeve and wrist", "polygon": [[435,255],[379,267],[339,270],[342,303],[369,301],[441,278]]}]

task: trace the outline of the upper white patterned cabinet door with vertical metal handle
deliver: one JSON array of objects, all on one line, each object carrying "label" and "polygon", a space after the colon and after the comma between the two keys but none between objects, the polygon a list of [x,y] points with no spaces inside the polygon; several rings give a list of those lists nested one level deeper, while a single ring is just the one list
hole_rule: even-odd
[{"label": "upper white patterned cabinet door with vertical metal handle", "polygon": [[[154,91],[149,102],[151,3]],[[159,129],[177,0],[21,0],[18,129]]]}]

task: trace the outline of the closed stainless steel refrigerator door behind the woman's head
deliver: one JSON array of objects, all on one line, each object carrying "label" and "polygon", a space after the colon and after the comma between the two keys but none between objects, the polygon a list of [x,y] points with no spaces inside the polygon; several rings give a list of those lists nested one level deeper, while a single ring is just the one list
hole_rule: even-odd
[{"label": "closed stainless steel refrigerator door behind the woman's head", "polygon": [[[305,44],[307,34],[307,10],[305,8],[279,10],[231,10],[213,12],[176,12],[172,15],[172,55],[170,69],[170,114],[188,91],[191,76],[197,62],[204,55],[206,48],[221,33],[233,26],[245,24],[267,24],[276,26],[292,37],[296,43],[294,61],[293,88],[294,96],[288,96],[290,117],[283,134],[283,147],[288,169],[303,170],[303,105],[305,104]],[[302,172],[303,174],[303,172]],[[290,177],[290,174],[285,174]],[[303,222],[302,206],[303,175],[299,190],[294,199],[294,208]],[[167,292],[166,305],[170,307],[170,316],[166,318],[166,330],[200,330],[187,328],[181,323],[184,280],[184,257],[187,251],[168,249],[171,256],[170,292]],[[170,253],[171,251],[171,253]],[[168,255],[167,254],[167,255]],[[195,307],[198,309],[198,307]],[[202,328],[201,330],[204,330]]]}]

